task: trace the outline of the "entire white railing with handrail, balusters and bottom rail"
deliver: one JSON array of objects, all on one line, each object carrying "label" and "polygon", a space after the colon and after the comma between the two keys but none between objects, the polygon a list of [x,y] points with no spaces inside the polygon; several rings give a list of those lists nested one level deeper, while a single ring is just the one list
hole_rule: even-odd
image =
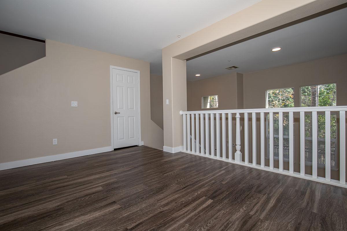
[{"label": "entire white railing with handrail, balusters and bottom rail", "polygon": [[[253,168],[278,172],[281,174],[301,177],[305,179],[320,181],[327,184],[347,187],[346,185],[346,110],[347,106],[336,107],[296,107],[296,108],[262,108],[262,109],[236,109],[236,110],[205,110],[180,112],[183,115],[183,152],[219,159],[227,162],[246,165]],[[331,131],[330,131],[330,113],[337,112],[339,119],[336,119],[337,141],[339,143],[339,152],[334,150],[335,156],[331,159]],[[278,165],[274,165],[274,113],[278,114]],[[312,171],[305,172],[305,113],[312,113]],[[324,177],[318,176],[318,122],[317,113],[325,115],[325,170]],[[259,115],[260,114],[260,115]],[[283,114],[289,118],[289,167],[283,168]],[[249,115],[252,120],[249,121]],[[297,115],[297,116],[296,116]],[[240,125],[241,116],[244,119],[244,126]],[[258,116],[258,117],[257,117]],[[269,157],[265,156],[265,116],[269,116]],[[299,123],[299,157],[294,156],[294,119]],[[257,121],[260,122],[260,135],[257,134]],[[323,121],[324,122],[324,121]],[[251,142],[249,145],[248,124],[252,124]],[[235,129],[233,128],[235,126]],[[243,130],[244,146],[241,146],[241,132]],[[235,131],[235,133],[234,133]],[[233,139],[235,134],[235,139]],[[260,136],[260,137],[259,137]],[[276,137],[277,139],[277,137]],[[195,142],[192,142],[195,140]],[[235,153],[234,144],[235,141]],[[260,142],[260,153],[257,151],[257,141]],[[297,144],[298,145],[298,144]],[[250,150],[248,150],[250,146]],[[243,148],[244,155],[241,152]],[[249,160],[252,155],[251,160]],[[260,161],[259,161],[260,157]],[[269,159],[267,161],[267,159]],[[257,163],[258,160],[258,163]],[[299,172],[294,171],[295,162],[299,162]],[[331,179],[331,163],[335,163],[338,168],[339,180]],[[337,161],[339,166],[337,166]],[[260,163],[260,164],[259,164]],[[306,166],[307,167],[307,166]],[[325,174],[324,174],[325,173]],[[322,174],[321,174],[322,175]],[[337,178],[337,177],[335,177]]]}]

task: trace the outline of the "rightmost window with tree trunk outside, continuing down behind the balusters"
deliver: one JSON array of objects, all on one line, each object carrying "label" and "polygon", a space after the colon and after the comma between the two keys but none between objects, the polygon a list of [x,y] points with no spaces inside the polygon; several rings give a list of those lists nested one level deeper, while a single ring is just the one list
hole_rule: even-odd
[{"label": "rightmost window with tree trunk outside, continuing down behind the balusters", "polygon": [[[336,106],[336,83],[301,87],[302,107]],[[325,113],[317,113],[317,160],[318,166],[325,166]],[[330,114],[331,168],[337,169],[337,113]],[[305,114],[305,164],[312,165],[312,114]]]}]

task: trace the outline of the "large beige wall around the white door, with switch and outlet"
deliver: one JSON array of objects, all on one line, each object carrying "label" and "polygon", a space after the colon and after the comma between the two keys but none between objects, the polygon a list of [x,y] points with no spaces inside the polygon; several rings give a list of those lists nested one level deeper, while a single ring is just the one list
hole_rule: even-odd
[{"label": "large beige wall around the white door, with switch and outlet", "polygon": [[148,62],[47,40],[46,57],[0,75],[0,162],[110,146],[110,65],[140,71],[142,140],[162,148]]}]

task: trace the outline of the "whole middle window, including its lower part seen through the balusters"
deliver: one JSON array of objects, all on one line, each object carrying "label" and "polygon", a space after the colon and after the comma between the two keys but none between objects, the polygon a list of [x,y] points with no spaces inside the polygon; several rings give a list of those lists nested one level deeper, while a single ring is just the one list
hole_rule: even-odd
[{"label": "whole middle window, including its lower part seen through the balusters", "polygon": [[[266,91],[266,108],[294,107],[294,88]],[[273,114],[273,158],[279,159],[279,116]],[[289,161],[289,113],[283,113],[283,160]],[[270,158],[270,121],[266,115],[267,157]]]}]

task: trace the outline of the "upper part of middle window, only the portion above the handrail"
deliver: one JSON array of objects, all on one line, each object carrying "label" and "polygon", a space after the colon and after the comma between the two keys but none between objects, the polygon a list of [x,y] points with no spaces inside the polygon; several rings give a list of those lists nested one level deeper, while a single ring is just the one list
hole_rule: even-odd
[{"label": "upper part of middle window, only the portion above the handrail", "polygon": [[266,108],[294,107],[294,88],[266,91]]}]

